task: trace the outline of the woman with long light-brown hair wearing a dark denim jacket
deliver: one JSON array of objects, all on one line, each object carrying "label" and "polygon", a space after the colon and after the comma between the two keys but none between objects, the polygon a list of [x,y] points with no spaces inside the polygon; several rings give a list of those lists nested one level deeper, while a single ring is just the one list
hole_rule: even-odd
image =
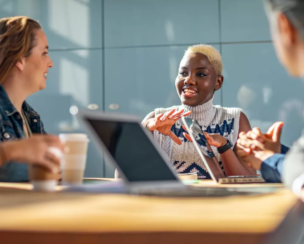
[{"label": "woman with long light-brown hair wearing a dark denim jacket", "polygon": [[[36,20],[26,16],[0,19],[1,142],[27,138],[35,133],[45,134],[39,114],[25,99],[46,87],[47,73],[52,66],[47,37]],[[43,155],[44,164],[58,163],[47,151]],[[37,161],[41,163],[41,159]],[[9,162],[0,165],[0,181],[27,180],[26,164]]]}]

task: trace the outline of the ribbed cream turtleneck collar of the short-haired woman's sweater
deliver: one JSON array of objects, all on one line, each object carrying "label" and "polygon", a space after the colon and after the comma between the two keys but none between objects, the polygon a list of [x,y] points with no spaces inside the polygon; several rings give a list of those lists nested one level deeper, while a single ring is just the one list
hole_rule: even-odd
[{"label": "ribbed cream turtleneck collar of the short-haired woman's sweater", "polygon": [[195,106],[195,107],[190,107],[187,105],[181,105],[181,106],[184,108],[185,112],[192,111],[192,113],[187,116],[189,119],[195,119],[197,121],[203,122],[204,124],[209,124],[214,118],[216,113],[216,108],[212,104],[213,98],[214,97],[212,97],[209,101],[199,106]]}]

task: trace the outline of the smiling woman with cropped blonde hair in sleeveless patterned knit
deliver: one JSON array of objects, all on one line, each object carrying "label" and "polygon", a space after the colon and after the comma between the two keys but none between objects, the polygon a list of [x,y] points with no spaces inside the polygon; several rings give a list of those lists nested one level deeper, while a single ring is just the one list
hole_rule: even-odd
[{"label": "smiling woman with cropped blonde hair in sleeveless patterned knit", "polygon": [[[189,46],[181,60],[175,86],[181,105],[156,108],[143,120],[154,139],[167,153],[178,173],[197,172],[199,179],[210,179],[193,143],[181,123],[181,116],[195,119],[208,134],[206,139],[226,176],[256,175],[256,170],[242,165],[234,147],[239,131],[251,129],[240,108],[213,105],[213,95],[223,84],[222,57],[209,45]],[[187,138],[187,139],[185,139]]]}]

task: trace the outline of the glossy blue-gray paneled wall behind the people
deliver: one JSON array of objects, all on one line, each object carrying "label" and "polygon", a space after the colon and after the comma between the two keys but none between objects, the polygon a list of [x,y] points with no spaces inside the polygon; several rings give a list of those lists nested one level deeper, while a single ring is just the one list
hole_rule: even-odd
[{"label": "glossy blue-gray paneled wall behind the people", "polygon": [[[54,67],[27,101],[50,133],[81,131],[72,105],[143,118],[179,104],[178,65],[196,43],[223,56],[215,104],[243,108],[263,131],[282,120],[288,146],[302,130],[303,83],[278,63],[261,0],[0,0],[0,17],[12,15],[38,19],[48,37]],[[92,143],[85,175],[113,177]]]}]

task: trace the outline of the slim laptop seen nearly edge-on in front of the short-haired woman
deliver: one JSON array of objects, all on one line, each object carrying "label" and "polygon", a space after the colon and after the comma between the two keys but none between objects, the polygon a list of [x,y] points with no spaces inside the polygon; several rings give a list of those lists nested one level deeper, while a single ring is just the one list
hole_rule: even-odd
[{"label": "slim laptop seen nearly edge-on in front of the short-haired woman", "polygon": [[226,177],[221,169],[216,157],[210,158],[206,151],[212,152],[206,137],[202,133],[199,123],[193,119],[185,117],[181,118],[183,125],[185,125],[192,142],[195,145],[203,163],[205,164],[208,173],[212,180],[219,184],[233,184],[233,183],[265,183],[266,181],[261,176],[228,176]]}]

